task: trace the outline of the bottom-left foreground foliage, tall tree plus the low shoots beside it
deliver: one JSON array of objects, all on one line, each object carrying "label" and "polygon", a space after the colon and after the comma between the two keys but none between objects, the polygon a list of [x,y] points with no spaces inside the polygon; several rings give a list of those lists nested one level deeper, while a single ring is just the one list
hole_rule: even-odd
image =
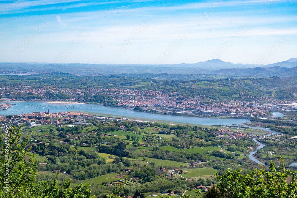
[{"label": "bottom-left foreground foliage, tall tree plus the low shoots beside it", "polygon": [[[20,129],[4,128],[0,135],[0,197],[2,198],[95,198],[90,195],[89,184],[78,184],[72,189],[71,180],[65,180],[60,187],[56,179],[49,186],[47,182],[35,183],[37,175],[35,155],[30,155],[27,138],[21,140]],[[25,159],[29,159],[27,162]]]}]

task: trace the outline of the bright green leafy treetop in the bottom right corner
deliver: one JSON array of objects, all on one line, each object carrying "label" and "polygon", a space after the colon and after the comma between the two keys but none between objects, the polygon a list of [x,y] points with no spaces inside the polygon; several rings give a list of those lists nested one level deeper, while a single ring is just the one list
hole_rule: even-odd
[{"label": "bright green leafy treetop in the bottom right corner", "polygon": [[[259,198],[296,198],[297,196],[297,171],[285,169],[284,160],[280,158],[279,170],[271,161],[269,171],[262,169],[241,175],[242,170],[228,169],[224,175],[217,175],[217,187],[221,197],[259,197]],[[291,176],[291,180],[287,180]]]}]

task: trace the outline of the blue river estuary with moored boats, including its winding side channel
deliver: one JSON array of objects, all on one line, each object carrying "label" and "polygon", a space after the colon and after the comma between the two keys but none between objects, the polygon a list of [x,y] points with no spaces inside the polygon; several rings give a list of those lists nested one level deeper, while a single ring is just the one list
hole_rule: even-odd
[{"label": "blue river estuary with moored boats, including its winding side channel", "polygon": [[[143,119],[154,119],[161,121],[169,121],[169,122],[179,122],[179,123],[191,123],[191,124],[202,124],[202,125],[233,125],[233,124],[242,124],[246,122],[250,122],[249,119],[242,118],[201,118],[201,117],[187,117],[187,116],[176,116],[176,115],[164,115],[164,114],[155,114],[155,113],[146,113],[133,111],[126,108],[114,108],[114,107],[106,107],[99,104],[49,104],[46,102],[12,102],[13,105],[7,110],[0,111],[0,115],[15,115],[15,114],[23,114],[23,113],[33,113],[33,111],[47,112],[50,113],[61,112],[61,111],[86,111],[86,112],[94,112],[100,114],[108,114],[113,115],[114,117],[125,118],[125,117],[133,117],[133,118],[143,118]],[[272,116],[283,117],[284,114],[279,112],[273,112]],[[262,129],[267,132],[272,132],[269,135],[276,134],[277,132],[271,131],[270,129],[261,128],[261,127],[250,127],[253,129]],[[267,136],[267,135],[266,135]],[[260,146],[257,147],[256,151],[252,151],[249,154],[249,158],[252,161],[260,164],[260,161],[255,159],[253,154],[257,152],[260,148],[263,148],[264,144],[258,142],[256,138],[253,140],[258,143]],[[264,164],[263,164],[264,165]],[[291,164],[292,165],[292,164]]]}]

